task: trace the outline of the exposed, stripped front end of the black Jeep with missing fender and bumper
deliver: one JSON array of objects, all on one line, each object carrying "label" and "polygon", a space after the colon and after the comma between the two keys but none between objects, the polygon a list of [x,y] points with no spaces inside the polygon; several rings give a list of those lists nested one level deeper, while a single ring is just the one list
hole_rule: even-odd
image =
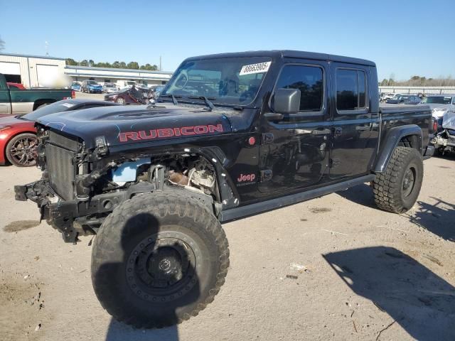
[{"label": "exposed, stripped front end of the black Jeep with missing fender and bumper", "polygon": [[[144,152],[112,156],[102,136],[91,149],[84,141],[44,127],[38,129],[38,139],[42,178],[15,186],[16,200],[36,202],[41,220],[58,229],[65,242],[96,234],[124,200],[154,190],[188,190],[215,215],[221,210],[215,166],[187,148],[154,156]],[[231,200],[223,205],[235,200],[232,192],[229,195]]]}]

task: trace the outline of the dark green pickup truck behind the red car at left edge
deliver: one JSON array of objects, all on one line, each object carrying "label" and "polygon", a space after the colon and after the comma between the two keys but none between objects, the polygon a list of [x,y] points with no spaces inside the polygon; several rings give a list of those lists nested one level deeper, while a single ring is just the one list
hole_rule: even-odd
[{"label": "dark green pickup truck behind the red car at left edge", "polygon": [[70,89],[25,89],[9,87],[0,73],[0,114],[28,114],[46,104],[74,98]]}]

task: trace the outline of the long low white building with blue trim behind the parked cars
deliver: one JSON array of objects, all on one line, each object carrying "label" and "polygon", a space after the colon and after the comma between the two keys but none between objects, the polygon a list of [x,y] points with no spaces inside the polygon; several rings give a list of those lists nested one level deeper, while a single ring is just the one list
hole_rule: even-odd
[{"label": "long low white building with blue trim behind the parked cars", "polygon": [[1,53],[0,73],[5,75],[6,81],[22,83],[25,87],[55,87],[56,80],[63,86],[65,77],[67,81],[95,80],[124,87],[126,81],[149,86],[166,84],[173,72],[67,66],[64,58]]}]

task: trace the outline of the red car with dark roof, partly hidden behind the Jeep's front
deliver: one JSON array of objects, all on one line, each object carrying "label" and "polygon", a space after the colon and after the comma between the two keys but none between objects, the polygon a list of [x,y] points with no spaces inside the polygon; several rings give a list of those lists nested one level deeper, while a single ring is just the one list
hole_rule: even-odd
[{"label": "red car with dark roof, partly hidden behind the Jeep's front", "polygon": [[19,167],[35,166],[38,144],[35,129],[36,119],[56,112],[109,105],[119,104],[94,99],[64,99],[23,116],[0,114],[0,164],[9,161]]}]

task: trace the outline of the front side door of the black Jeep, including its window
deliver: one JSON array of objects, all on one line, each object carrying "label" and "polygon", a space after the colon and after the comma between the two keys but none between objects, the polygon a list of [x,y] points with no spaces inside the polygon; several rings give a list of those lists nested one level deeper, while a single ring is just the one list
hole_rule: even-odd
[{"label": "front side door of the black Jeep, including its window", "polygon": [[[262,193],[315,185],[326,173],[331,139],[328,70],[328,63],[314,60],[289,60],[283,65],[274,89],[299,89],[300,111],[277,121],[262,114]],[[271,110],[273,98],[272,94]]]}]

